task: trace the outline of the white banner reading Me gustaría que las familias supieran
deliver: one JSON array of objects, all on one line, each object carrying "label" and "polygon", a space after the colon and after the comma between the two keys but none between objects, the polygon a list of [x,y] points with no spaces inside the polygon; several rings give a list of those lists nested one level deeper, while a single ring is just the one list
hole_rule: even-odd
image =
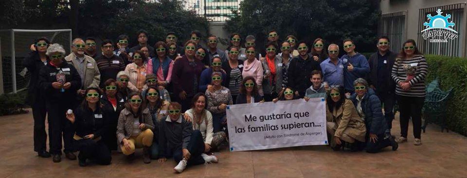
[{"label": "white banner reading Me gustar\u00eda que las familias supieran", "polygon": [[323,98],[227,108],[230,151],[327,144]]}]

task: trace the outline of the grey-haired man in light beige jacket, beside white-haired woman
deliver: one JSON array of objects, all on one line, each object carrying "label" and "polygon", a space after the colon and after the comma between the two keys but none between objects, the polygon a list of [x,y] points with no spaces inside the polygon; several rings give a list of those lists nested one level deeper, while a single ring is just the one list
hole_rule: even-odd
[{"label": "grey-haired man in light beige jacket, beside white-haired woman", "polygon": [[[86,40],[88,41],[88,40]],[[101,73],[97,68],[96,61],[89,55],[85,55],[83,46],[85,42],[81,38],[75,38],[72,42],[72,53],[65,57],[65,61],[76,68],[81,77],[81,88],[77,93],[79,97],[78,103],[84,99],[84,92],[88,88],[97,88],[101,80]]]}]

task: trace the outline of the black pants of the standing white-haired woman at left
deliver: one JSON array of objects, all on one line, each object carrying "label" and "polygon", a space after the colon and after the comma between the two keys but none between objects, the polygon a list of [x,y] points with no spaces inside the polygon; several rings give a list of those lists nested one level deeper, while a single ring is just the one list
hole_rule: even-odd
[{"label": "black pants of the standing white-haired woman at left", "polygon": [[49,121],[49,147],[51,154],[61,154],[62,137],[65,144],[65,153],[74,152],[72,123],[66,118],[66,112],[72,105],[64,103],[46,104],[47,120]]}]

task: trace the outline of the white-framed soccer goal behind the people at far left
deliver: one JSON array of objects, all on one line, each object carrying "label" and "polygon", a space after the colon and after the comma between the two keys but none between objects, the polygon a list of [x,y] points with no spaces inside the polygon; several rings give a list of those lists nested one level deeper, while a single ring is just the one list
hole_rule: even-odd
[{"label": "white-framed soccer goal behind the people at far left", "polygon": [[0,53],[3,91],[16,93],[28,88],[30,73],[21,65],[31,52],[31,45],[39,37],[47,37],[51,43],[63,45],[67,53],[71,51],[72,30],[0,30]]}]

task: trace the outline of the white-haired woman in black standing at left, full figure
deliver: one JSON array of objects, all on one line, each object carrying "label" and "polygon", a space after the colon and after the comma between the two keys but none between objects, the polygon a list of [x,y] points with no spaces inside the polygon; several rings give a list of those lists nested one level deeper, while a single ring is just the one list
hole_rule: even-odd
[{"label": "white-haired woman in black standing at left, full figure", "polygon": [[70,160],[76,160],[72,153],[74,130],[65,113],[76,106],[76,91],[81,87],[78,71],[64,61],[65,50],[62,45],[51,44],[46,55],[50,62],[39,71],[39,86],[44,94],[49,121],[49,146],[54,162],[61,161],[62,133],[65,154]]}]

